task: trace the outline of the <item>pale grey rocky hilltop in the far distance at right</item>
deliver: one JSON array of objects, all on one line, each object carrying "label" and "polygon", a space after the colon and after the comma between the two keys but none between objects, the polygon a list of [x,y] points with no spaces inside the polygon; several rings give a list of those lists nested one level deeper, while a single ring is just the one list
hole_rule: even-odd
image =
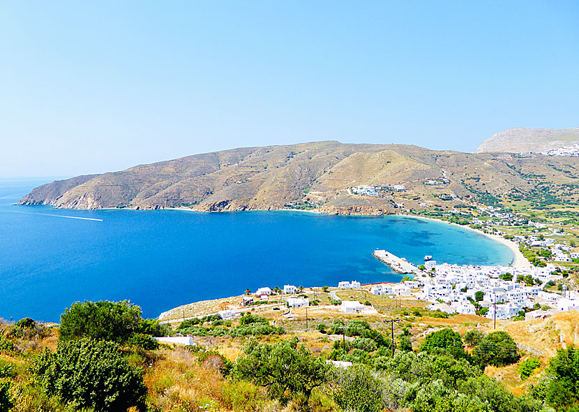
[{"label": "pale grey rocky hilltop in the far distance at right", "polygon": [[541,153],[579,143],[579,128],[509,128],[485,140],[475,153]]}]

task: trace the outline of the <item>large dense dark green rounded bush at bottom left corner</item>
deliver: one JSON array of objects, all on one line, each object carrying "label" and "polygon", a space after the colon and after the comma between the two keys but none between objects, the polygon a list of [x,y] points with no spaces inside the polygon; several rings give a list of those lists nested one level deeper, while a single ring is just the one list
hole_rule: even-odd
[{"label": "large dense dark green rounded bush at bottom left corner", "polygon": [[48,395],[56,395],[77,409],[144,409],[147,389],[143,371],[131,368],[113,342],[60,342],[56,353],[45,351],[36,359],[32,371]]}]

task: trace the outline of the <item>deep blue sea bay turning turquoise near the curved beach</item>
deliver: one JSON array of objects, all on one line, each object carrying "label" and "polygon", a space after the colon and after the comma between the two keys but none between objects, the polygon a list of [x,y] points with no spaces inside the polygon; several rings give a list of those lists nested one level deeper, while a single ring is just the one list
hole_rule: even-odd
[{"label": "deep blue sea bay turning turquoise near the curved beach", "polygon": [[398,281],[373,258],[377,248],[416,264],[426,254],[459,264],[513,260],[508,248],[472,230],[403,216],[14,205],[47,182],[0,180],[0,317],[7,320],[59,321],[79,300],[127,299],[156,317],[246,288]]}]

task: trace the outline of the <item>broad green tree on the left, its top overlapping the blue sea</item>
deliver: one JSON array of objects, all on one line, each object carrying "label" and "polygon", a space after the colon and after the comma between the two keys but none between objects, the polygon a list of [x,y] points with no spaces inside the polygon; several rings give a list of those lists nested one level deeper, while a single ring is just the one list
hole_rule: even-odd
[{"label": "broad green tree on the left, its top overlapping the blue sea", "polygon": [[88,337],[152,349],[157,343],[151,335],[158,336],[163,331],[158,321],[143,320],[141,308],[126,300],[75,302],[60,318],[62,341]]}]

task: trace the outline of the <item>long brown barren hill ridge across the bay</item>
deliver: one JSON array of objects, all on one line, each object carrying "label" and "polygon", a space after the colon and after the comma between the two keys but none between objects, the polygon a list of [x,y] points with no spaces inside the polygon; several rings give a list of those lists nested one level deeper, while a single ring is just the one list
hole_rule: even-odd
[{"label": "long brown barren hill ridge across the bay", "polygon": [[[394,190],[396,184],[405,189]],[[564,194],[566,203],[574,203],[579,200],[577,185],[576,157],[466,154],[329,141],[244,147],[75,177],[40,186],[19,204],[389,214],[399,207],[448,208],[469,200],[492,205],[509,197],[556,203]],[[359,186],[380,187],[377,193],[359,196],[352,192]]]}]

